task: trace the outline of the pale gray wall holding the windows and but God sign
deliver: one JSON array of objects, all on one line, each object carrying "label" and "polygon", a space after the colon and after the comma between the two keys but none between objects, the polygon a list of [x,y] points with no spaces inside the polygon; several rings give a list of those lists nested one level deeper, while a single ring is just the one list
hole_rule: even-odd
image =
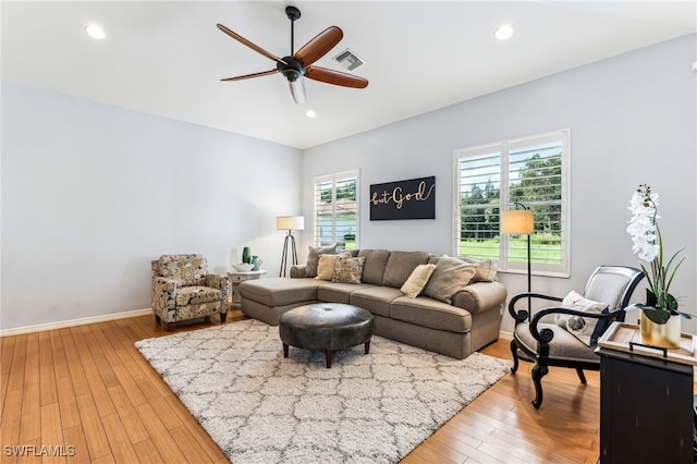
[{"label": "pale gray wall holding the windows and but God sign", "polygon": [[[310,217],[313,175],[359,168],[360,247],[452,253],[453,150],[570,127],[572,274],[534,277],[533,290],[563,296],[583,291],[598,265],[638,266],[625,232],[626,204],[648,183],[661,195],[668,251],[686,247],[673,293],[697,314],[696,59],[696,36],[686,36],[307,149],[304,213]],[[370,222],[370,184],[428,175],[437,182],[435,220]],[[501,280],[510,294],[527,286],[522,274]],[[644,291],[635,295],[643,300]],[[512,327],[504,319],[502,330]],[[683,329],[695,332],[695,325]]]}]

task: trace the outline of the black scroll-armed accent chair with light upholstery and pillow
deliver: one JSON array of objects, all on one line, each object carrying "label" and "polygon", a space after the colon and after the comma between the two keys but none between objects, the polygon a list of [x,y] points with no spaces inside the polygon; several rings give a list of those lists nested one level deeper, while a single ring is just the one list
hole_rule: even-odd
[{"label": "black scroll-armed accent chair with light upholstery and pillow", "polygon": [[[542,404],[542,377],[550,366],[576,369],[582,383],[586,383],[584,369],[600,370],[596,342],[612,321],[624,321],[624,308],[643,278],[644,273],[635,268],[600,266],[588,279],[583,295],[570,292],[565,297],[559,297],[521,293],[511,298],[509,313],[515,319],[511,371],[517,370],[518,358],[535,363],[535,408]],[[558,304],[535,313],[528,322],[528,297]],[[515,308],[518,302],[525,309]]]}]

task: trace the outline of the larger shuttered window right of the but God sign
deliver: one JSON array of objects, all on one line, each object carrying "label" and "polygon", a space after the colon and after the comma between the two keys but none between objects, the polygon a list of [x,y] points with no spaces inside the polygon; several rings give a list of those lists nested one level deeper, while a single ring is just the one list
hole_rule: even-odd
[{"label": "larger shuttered window right of the but God sign", "polygon": [[534,272],[568,276],[568,139],[563,130],[454,151],[457,256],[526,270],[527,235],[499,232],[501,210],[525,207],[535,215]]}]

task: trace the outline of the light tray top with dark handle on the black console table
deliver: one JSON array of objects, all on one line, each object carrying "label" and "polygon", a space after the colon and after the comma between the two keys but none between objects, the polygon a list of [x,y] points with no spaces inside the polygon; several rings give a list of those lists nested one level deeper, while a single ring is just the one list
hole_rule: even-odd
[{"label": "light tray top with dark handle on the black console table", "polygon": [[639,326],[626,322],[612,322],[610,328],[606,330],[606,333],[598,340],[598,346],[697,366],[695,341],[689,333],[681,333],[680,347],[665,350],[641,343]]}]

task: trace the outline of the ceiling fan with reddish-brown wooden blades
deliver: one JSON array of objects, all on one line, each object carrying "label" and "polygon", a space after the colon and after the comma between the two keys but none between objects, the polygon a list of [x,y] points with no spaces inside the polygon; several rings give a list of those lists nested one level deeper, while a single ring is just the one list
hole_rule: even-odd
[{"label": "ceiling fan with reddish-brown wooden blades", "polygon": [[291,54],[288,57],[279,58],[256,44],[242,37],[240,34],[229,29],[222,24],[218,24],[218,28],[228,34],[239,42],[249,47],[257,53],[265,56],[266,58],[276,61],[276,69],[270,71],[262,71],[260,73],[245,74],[236,77],[228,77],[221,81],[242,81],[252,77],[260,77],[270,74],[281,73],[288,80],[291,88],[291,95],[297,105],[305,102],[305,86],[303,84],[303,76],[311,78],[314,81],[323,82],[327,84],[340,85],[343,87],[365,88],[368,85],[368,81],[363,77],[355,76],[353,74],[342,73],[340,71],[330,70],[327,68],[314,66],[313,63],[322,58],[329,52],[339,41],[343,38],[343,32],[337,26],[330,26],[325,32],[320,33],[317,37],[305,44],[299,50],[293,53],[294,50],[294,24],[301,17],[301,11],[295,7],[286,7],[285,15],[291,20]]}]

